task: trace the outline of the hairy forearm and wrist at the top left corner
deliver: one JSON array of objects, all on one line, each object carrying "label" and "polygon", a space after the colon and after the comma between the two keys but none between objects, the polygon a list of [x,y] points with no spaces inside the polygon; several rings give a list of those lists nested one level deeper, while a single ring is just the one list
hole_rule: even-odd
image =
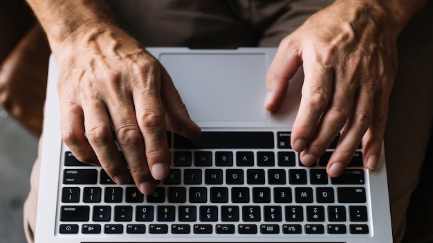
[{"label": "hairy forearm and wrist at the top left corner", "polygon": [[103,0],[27,0],[44,28],[51,48],[89,23],[114,23]]}]

